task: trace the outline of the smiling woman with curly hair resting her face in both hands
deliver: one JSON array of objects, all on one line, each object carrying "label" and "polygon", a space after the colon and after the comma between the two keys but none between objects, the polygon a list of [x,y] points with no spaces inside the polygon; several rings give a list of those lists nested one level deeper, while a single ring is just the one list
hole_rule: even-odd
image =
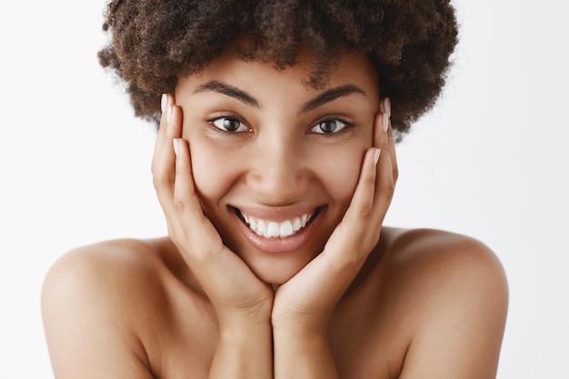
[{"label": "smiling woman with curly hair resting her face in both hands", "polygon": [[383,225],[444,85],[444,0],[111,2],[100,53],[158,125],[168,236],[45,279],[57,378],[495,376],[507,289],[464,235]]}]

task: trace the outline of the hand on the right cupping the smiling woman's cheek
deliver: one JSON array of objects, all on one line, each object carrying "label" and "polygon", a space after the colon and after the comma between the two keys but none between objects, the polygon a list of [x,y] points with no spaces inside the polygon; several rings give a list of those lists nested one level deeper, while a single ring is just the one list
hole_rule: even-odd
[{"label": "hand on the right cupping the smiling woman's cheek", "polygon": [[[284,325],[301,332],[325,334],[335,305],[378,243],[397,180],[390,113],[391,105],[385,99],[375,116],[375,147],[364,155],[352,202],[324,251],[277,289],[272,314],[274,328]],[[375,164],[377,154],[379,161]]]}]

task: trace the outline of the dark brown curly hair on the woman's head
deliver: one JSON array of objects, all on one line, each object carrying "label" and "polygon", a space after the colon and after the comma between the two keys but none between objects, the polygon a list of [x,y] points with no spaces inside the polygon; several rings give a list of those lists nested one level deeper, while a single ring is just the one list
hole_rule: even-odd
[{"label": "dark brown curly hair on the woman's head", "polygon": [[307,47],[314,88],[338,53],[362,52],[401,136],[440,95],[457,29],[450,0],[114,0],[103,25],[112,38],[98,56],[125,84],[135,115],[157,123],[161,95],[226,51],[282,70]]}]

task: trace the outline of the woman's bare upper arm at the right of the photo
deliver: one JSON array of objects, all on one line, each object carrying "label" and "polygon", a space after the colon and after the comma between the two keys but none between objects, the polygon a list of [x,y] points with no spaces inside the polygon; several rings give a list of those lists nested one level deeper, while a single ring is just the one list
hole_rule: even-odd
[{"label": "woman's bare upper arm at the right of the photo", "polygon": [[418,297],[400,378],[495,378],[508,302],[502,264],[465,237],[431,247],[433,258],[410,273]]}]

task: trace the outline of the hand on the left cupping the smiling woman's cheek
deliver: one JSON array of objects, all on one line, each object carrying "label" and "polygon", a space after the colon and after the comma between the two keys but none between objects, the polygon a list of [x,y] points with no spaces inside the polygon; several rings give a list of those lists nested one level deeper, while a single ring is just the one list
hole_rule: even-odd
[{"label": "hand on the left cupping the smiling woman's cheek", "polygon": [[225,246],[202,210],[182,118],[174,96],[163,95],[152,173],[168,234],[214,305],[220,327],[270,322],[273,289]]}]

